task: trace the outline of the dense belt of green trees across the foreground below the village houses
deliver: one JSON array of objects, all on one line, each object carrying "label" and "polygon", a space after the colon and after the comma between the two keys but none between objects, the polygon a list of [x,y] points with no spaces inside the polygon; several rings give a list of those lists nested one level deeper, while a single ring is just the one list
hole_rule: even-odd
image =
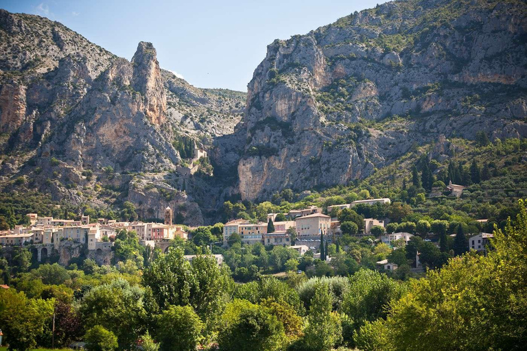
[{"label": "dense belt of green trees across the foreground below the village houses", "polygon": [[[32,268],[30,252],[19,247],[10,261],[0,260],[11,285],[0,289],[1,328],[11,350],[80,339],[89,350],[137,343],[145,350],[521,350],[526,205],[520,200],[515,219],[494,231],[487,256],[448,258],[419,279],[390,277],[356,261],[339,276],[308,278],[294,271],[307,256],[288,258],[291,270],[281,279],[235,284],[230,265],[218,266],[206,249],[197,248],[190,262],[178,243],[167,254],[145,253],[125,231],[116,238],[122,261],[113,267],[86,260]],[[364,252],[368,243],[357,245],[351,251]],[[277,265],[278,256],[272,252],[268,264]]]}]

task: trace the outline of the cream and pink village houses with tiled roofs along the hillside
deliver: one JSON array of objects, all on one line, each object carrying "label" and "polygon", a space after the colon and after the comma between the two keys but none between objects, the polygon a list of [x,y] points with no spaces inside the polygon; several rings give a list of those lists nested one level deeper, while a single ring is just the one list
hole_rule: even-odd
[{"label": "cream and pink village houses with tiled roofs along the hillside", "polygon": [[[327,213],[336,213],[339,210],[353,208],[359,204],[390,204],[390,199],[364,199],[327,207]],[[27,214],[30,226],[15,226],[13,230],[0,232],[0,244],[4,246],[34,245],[38,261],[43,261],[52,250],[59,250],[62,243],[73,242],[86,244],[89,252],[102,254],[112,250],[113,239],[119,230],[134,231],[139,237],[141,245],[159,248],[166,252],[172,240],[179,238],[187,240],[189,234],[183,226],[174,225],[172,209],[165,208],[164,223],[143,223],[142,221],[115,221],[99,218],[91,223],[89,216],[81,216],[80,220],[54,219],[53,217],[38,217],[35,213]],[[277,218],[285,220],[277,220]],[[308,251],[314,253],[315,258],[320,258],[321,243],[336,243],[342,235],[341,223],[336,217],[323,213],[323,208],[308,206],[299,210],[290,210],[289,213],[269,213],[267,222],[254,223],[246,219],[234,219],[223,226],[223,245],[229,246],[229,241],[239,237],[239,241],[246,245],[262,243],[264,245],[280,245],[290,247],[298,254],[303,255]],[[378,241],[386,245],[395,246],[395,242],[407,245],[413,234],[409,232],[386,232],[384,220],[373,218],[364,219],[364,229],[359,235],[374,235]],[[455,236],[455,234],[452,234]],[[479,233],[469,237],[468,248],[484,252],[492,234]],[[426,239],[428,240],[428,239]],[[436,245],[439,245],[438,243]],[[316,253],[318,252],[318,253]],[[218,263],[223,262],[222,255],[216,255]],[[191,259],[192,257],[188,257]],[[331,258],[326,256],[326,260]],[[419,257],[416,257],[419,266]],[[387,260],[377,262],[384,269],[397,269],[397,265],[388,263]]]}]

